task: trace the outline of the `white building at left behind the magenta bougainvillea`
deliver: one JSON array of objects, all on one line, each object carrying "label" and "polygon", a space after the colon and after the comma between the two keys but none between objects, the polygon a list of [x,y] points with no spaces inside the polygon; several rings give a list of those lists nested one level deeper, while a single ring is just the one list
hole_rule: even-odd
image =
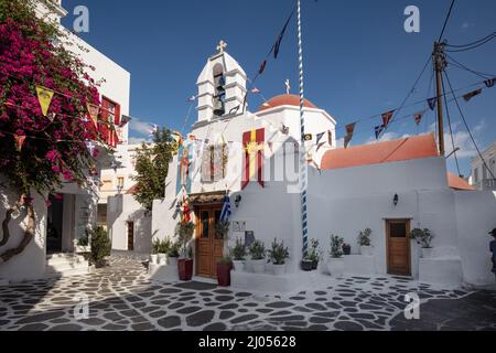
[{"label": "white building at left behind the magenta bougainvillea", "polygon": [[[50,11],[40,4],[36,13],[43,19],[60,24],[67,11],[63,9],[61,0],[54,1],[54,11]],[[114,114],[109,114],[109,119],[118,125],[121,115],[129,115],[129,72],[72,32],[64,31],[71,42],[76,44],[72,45],[69,50],[74,51],[85,64],[95,67],[95,71],[88,69],[88,75],[95,81],[105,78],[99,87],[100,100],[103,107],[108,111],[114,111]],[[128,126],[117,127],[117,129],[120,140],[126,141]],[[98,157],[99,168],[108,168],[111,160],[110,156],[100,153]],[[0,265],[0,278],[19,281],[44,276],[87,272],[88,263],[72,254],[77,252],[77,240],[84,236],[88,225],[97,222],[99,178],[94,180],[94,185],[89,190],[79,189],[75,184],[65,184],[58,193],[58,197],[51,196],[52,205],[50,207],[45,205],[43,197],[34,197],[37,226],[35,239],[21,255]],[[15,200],[14,195],[9,194],[2,195],[1,201],[0,218],[3,220],[6,208]],[[21,218],[11,222],[11,238],[6,248],[12,247],[22,238],[23,220]],[[48,228],[50,232],[47,232]],[[2,249],[0,248],[0,250]]]}]

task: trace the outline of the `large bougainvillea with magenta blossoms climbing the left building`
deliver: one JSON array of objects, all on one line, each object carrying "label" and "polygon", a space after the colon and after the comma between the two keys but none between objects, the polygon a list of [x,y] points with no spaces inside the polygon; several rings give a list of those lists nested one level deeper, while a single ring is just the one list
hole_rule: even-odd
[{"label": "large bougainvillea with magenta blossoms climbing the left building", "polygon": [[[50,7],[50,0],[41,1]],[[47,197],[64,181],[84,186],[95,167],[86,142],[100,138],[86,104],[99,105],[97,83],[64,49],[67,40],[57,24],[35,17],[33,0],[0,0],[0,188],[19,195],[2,224],[0,247],[8,242],[12,213],[25,205],[29,217],[23,243],[0,249],[0,263],[34,236],[31,192]],[[36,86],[55,92],[46,117]]]}]

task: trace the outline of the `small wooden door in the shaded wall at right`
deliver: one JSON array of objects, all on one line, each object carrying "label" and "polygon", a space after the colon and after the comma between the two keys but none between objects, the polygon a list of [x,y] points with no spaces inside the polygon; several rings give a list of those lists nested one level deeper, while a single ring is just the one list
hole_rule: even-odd
[{"label": "small wooden door in the shaded wall at right", "polygon": [[388,274],[411,276],[410,221],[386,221]]}]

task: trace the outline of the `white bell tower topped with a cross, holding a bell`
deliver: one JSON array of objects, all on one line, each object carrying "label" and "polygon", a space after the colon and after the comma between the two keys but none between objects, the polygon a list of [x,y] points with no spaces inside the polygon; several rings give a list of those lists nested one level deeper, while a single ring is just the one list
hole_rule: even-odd
[{"label": "white bell tower topped with a cross, holding a bell", "polygon": [[198,76],[198,122],[219,119],[242,111],[247,76],[241,66],[226,53],[220,41]]}]

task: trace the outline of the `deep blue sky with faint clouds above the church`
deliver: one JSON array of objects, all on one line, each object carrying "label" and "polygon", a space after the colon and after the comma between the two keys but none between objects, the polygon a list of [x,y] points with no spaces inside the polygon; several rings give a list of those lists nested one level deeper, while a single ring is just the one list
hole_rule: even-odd
[{"label": "deep blue sky with faint clouds above the church", "polygon": [[[450,0],[302,2],[306,96],[337,120],[338,138],[343,137],[346,124],[401,105],[432,51],[451,3]],[[82,38],[131,73],[131,116],[137,118],[131,125],[131,137],[136,139],[145,138],[143,130],[152,122],[182,129],[190,107],[187,97],[196,94],[196,78],[219,40],[228,43],[229,54],[254,77],[293,3],[290,0],[63,1],[69,11],[64,24],[72,26],[76,6],[87,6],[90,31]],[[420,33],[403,30],[407,19],[403,11],[411,4],[420,9]],[[496,30],[495,13],[494,0],[457,0],[444,38],[452,44],[484,38]],[[296,53],[293,21],[279,58],[269,62],[257,82],[266,98],[284,93],[285,78],[290,78],[296,93]],[[452,56],[470,68],[496,75],[496,40]],[[454,66],[448,73],[454,88],[483,81]],[[427,98],[430,81],[429,69],[409,103]],[[482,148],[496,140],[495,98],[496,87],[485,89],[468,104],[461,99]],[[260,96],[249,98],[251,110],[261,104]],[[407,107],[398,118],[422,108],[422,105]],[[455,145],[461,148],[462,173],[467,175],[475,150],[453,104],[450,110]],[[194,121],[193,110],[188,122]],[[379,122],[378,117],[360,121],[353,143],[375,140],[374,127]],[[412,118],[398,119],[384,139],[423,132],[432,129],[433,122],[432,113],[419,128]],[[451,139],[446,141],[446,150],[452,150]],[[449,167],[456,171],[452,159]]]}]

